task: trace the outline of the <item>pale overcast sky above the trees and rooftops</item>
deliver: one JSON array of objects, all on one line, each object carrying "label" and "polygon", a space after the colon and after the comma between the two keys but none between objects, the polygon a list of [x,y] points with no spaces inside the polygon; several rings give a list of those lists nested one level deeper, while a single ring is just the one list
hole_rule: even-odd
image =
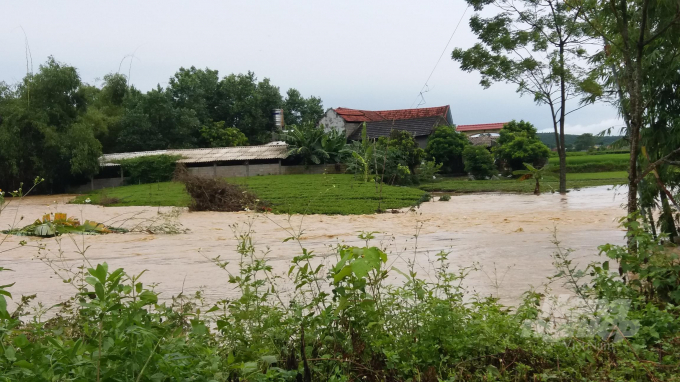
[{"label": "pale overcast sky above the trees and rooftops", "polygon": [[[324,108],[450,105],[456,124],[524,119],[552,131],[547,106],[513,85],[483,89],[478,74],[451,60],[454,48],[475,43],[463,0],[0,0],[0,14],[0,81],[10,84],[26,75],[27,40],[34,71],[52,55],[95,85],[119,71],[142,90],[167,85],[180,67],[252,71],[282,94],[320,97]],[[566,125],[582,134],[622,122],[613,107],[596,104]]]}]

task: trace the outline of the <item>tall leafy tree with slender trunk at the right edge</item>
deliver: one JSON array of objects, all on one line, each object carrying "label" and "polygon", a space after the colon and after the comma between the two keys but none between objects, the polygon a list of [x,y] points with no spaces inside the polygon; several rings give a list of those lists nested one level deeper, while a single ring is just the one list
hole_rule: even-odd
[{"label": "tall leafy tree with slender trunk at the right edge", "polygon": [[680,7],[671,0],[574,0],[574,4],[582,9],[579,16],[587,22],[590,33],[605,43],[596,59],[605,85],[618,95],[626,122],[630,143],[628,213],[632,220],[638,211],[639,183],[652,172],[659,187],[665,189],[658,166],[680,152],[677,146],[666,146],[657,160],[649,155],[640,157],[645,130],[655,119],[650,107],[658,104],[664,88],[668,90],[666,84],[677,78],[680,67]]}]

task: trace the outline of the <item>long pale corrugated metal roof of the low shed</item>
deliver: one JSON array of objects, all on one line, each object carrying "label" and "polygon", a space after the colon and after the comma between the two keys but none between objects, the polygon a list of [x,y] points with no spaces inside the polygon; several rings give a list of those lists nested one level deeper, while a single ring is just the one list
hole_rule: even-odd
[{"label": "long pale corrugated metal roof of the low shed", "polygon": [[184,149],[184,150],[156,150],[138,151],[132,153],[104,154],[99,158],[102,167],[118,166],[118,161],[131,158],[139,158],[151,155],[179,155],[180,163],[208,163],[260,159],[285,159],[288,155],[288,145],[262,145],[262,146],[237,146],[215,147],[209,149]]}]

